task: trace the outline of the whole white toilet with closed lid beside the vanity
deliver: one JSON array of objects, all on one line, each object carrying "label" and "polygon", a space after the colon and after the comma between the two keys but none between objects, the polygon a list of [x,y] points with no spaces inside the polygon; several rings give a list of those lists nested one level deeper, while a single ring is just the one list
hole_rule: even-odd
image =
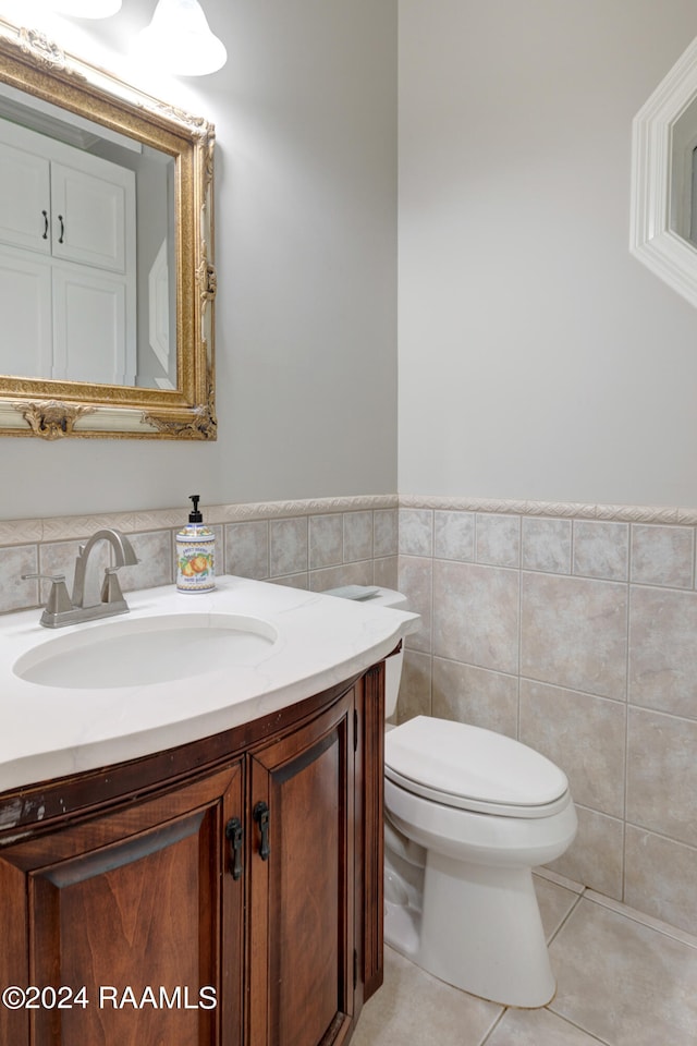
[{"label": "whole white toilet with closed lid beside the vanity", "polygon": [[[377,601],[406,609],[400,593]],[[402,654],[388,659],[386,715]],[[505,1006],[554,995],[533,867],[576,835],[562,770],[503,734],[418,716],[386,735],[384,939],[442,981]]]}]

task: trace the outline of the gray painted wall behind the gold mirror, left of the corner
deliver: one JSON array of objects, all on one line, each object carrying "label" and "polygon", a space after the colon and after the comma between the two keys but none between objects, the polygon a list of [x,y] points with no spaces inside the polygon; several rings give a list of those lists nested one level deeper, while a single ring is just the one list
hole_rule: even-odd
[{"label": "gray painted wall behind the gold mirror, left of the corner", "polygon": [[[122,73],[154,7],[64,46]],[[204,9],[219,73],[131,75],[217,127],[218,441],[0,439],[0,519],[396,488],[396,0]]]}]

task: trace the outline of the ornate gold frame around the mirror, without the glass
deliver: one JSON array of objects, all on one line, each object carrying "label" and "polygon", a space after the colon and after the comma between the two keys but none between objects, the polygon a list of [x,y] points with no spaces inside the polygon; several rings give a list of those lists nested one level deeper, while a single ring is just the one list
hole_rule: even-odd
[{"label": "ornate gold frame around the mirror, without the glass", "polygon": [[0,376],[0,436],[216,439],[215,129],[0,19],[0,80],[175,161],[176,389]]}]

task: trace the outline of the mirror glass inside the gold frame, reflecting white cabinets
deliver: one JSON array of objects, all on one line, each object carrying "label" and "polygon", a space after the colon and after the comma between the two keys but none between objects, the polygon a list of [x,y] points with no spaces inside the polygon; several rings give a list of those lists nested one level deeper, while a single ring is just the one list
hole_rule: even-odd
[{"label": "mirror glass inside the gold frame, reflecting white cabinets", "polygon": [[176,388],[173,193],[171,156],[0,84],[0,373]]}]

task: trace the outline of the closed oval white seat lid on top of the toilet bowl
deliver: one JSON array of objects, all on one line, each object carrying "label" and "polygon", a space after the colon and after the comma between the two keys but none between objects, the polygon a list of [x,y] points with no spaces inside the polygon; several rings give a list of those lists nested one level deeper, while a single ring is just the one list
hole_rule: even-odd
[{"label": "closed oval white seat lid on top of the toilet bowl", "polygon": [[401,778],[441,792],[444,802],[452,795],[486,804],[542,806],[568,788],[563,770],[526,744],[430,716],[391,730],[384,739],[384,762]]}]

